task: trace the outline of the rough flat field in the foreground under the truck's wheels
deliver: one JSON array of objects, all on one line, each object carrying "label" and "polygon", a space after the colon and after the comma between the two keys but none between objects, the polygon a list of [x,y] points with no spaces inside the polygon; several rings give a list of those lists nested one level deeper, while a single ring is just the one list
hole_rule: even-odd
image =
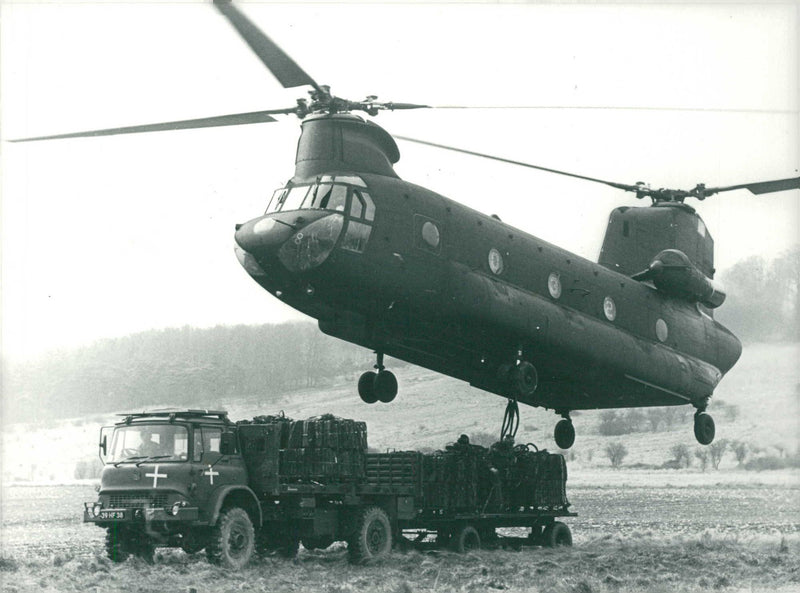
[{"label": "rough flat field in the foreground under the truck's wheels", "polygon": [[[242,573],[203,554],[161,549],[148,566],[112,565],[103,531],[80,522],[91,485],[15,486],[2,501],[2,590],[14,591],[798,591],[800,488],[731,479],[690,487],[647,484],[635,472],[617,486],[579,485],[568,519],[575,546],[456,555],[393,553],[351,566],[342,545],[301,549],[295,561],[254,563]],[[652,480],[644,480],[644,482]],[[625,485],[623,485],[625,484]]]}]

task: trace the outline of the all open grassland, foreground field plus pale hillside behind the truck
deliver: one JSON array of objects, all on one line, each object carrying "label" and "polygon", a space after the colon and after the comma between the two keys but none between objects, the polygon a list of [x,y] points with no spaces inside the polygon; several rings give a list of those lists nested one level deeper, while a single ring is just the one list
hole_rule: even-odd
[{"label": "all open grassland, foreground field plus pale hillside behind the truck", "polygon": [[[796,344],[745,348],[715,396],[719,409],[720,400],[738,408],[717,416],[718,438],[744,440],[762,454],[797,451],[799,354]],[[462,432],[498,432],[502,399],[416,368],[398,375],[401,392],[391,406],[362,404],[346,381],[289,394],[280,407],[294,418],[333,412],[366,420],[370,446],[381,450],[442,448]],[[255,396],[222,403],[234,418],[278,411],[263,409]],[[74,480],[75,464],[96,454],[98,428],[111,419],[4,427],[2,591],[800,591],[797,470],[744,471],[730,455],[718,471],[652,469],[675,444],[699,447],[691,425],[609,438],[597,433],[598,412],[575,416],[572,549],[395,552],[352,566],[334,545],[301,550],[295,561],[268,558],[242,573],[211,567],[202,554],[162,549],[152,566],[135,559],[114,565],[104,556],[103,532],[80,522],[83,501],[96,498],[93,482]],[[523,409],[518,441],[554,450],[555,420]],[[603,455],[610,440],[630,451],[620,470]],[[649,469],[636,469],[643,466]]]}]

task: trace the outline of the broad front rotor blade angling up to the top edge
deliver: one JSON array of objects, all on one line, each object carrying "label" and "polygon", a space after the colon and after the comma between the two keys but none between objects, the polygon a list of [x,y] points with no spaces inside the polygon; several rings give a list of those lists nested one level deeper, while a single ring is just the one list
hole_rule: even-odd
[{"label": "broad front rotor blade angling up to the top edge", "polygon": [[230,21],[239,35],[247,42],[263,64],[269,68],[284,88],[310,84],[322,92],[319,85],[306,74],[295,61],[267,37],[261,29],[243,13],[239,12],[230,0],[214,0],[214,6]]}]

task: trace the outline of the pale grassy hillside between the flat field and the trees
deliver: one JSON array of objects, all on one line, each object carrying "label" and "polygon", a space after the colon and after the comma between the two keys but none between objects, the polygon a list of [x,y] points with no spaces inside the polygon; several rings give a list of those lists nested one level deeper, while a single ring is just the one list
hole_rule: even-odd
[{"label": "pale grassy hillside between the flat field and the trees", "polygon": [[[751,448],[762,449],[761,455],[797,452],[799,359],[800,344],[746,346],[741,361],[722,381],[709,408],[717,422],[717,439],[745,441]],[[327,387],[270,394],[266,398],[226,396],[187,403],[193,407],[222,406],[234,419],[282,410],[292,418],[333,413],[365,420],[369,426],[369,445],[378,450],[439,449],[461,433],[484,442],[497,438],[505,406],[503,399],[417,367],[393,368],[398,375],[400,394],[389,405],[361,402],[355,390],[358,371],[337,378]],[[152,407],[173,404],[175,402],[165,399],[153,402]],[[572,476],[576,475],[576,469],[583,470],[584,474],[588,470],[608,469],[604,449],[610,442],[622,442],[628,449],[624,460],[626,467],[661,465],[670,459],[670,448],[681,443],[692,451],[699,450],[692,434],[691,409],[687,407],[685,412],[686,420],[671,430],[614,437],[598,434],[603,412],[573,414],[578,436],[570,450]],[[523,407],[517,441],[533,442],[540,448],[554,450],[552,430],[556,420],[552,412]],[[113,414],[93,414],[6,425],[2,440],[3,484],[72,480],[76,464],[95,463],[99,428],[113,421]],[[729,452],[720,467],[734,469],[736,465]]]}]

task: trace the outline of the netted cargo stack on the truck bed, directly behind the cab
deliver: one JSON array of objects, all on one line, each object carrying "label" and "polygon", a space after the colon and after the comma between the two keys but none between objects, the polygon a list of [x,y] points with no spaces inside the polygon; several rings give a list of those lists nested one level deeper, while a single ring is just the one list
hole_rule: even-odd
[{"label": "netted cargo stack on the truck bed, directly behind the cab", "polygon": [[268,492],[287,482],[347,482],[364,477],[367,425],[332,414],[306,420],[256,416],[238,423],[251,483]]}]

